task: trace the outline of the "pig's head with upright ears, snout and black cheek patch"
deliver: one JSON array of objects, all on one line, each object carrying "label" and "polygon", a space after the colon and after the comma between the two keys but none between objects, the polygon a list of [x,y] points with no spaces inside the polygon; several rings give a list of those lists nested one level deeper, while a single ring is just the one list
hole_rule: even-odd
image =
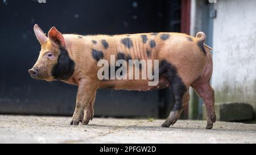
[{"label": "pig's head with upright ears, snout and black cheek patch", "polygon": [[63,35],[52,27],[47,37],[38,24],[35,24],[34,32],[41,44],[41,51],[35,65],[28,70],[30,76],[46,81],[71,77],[75,63],[68,56]]}]

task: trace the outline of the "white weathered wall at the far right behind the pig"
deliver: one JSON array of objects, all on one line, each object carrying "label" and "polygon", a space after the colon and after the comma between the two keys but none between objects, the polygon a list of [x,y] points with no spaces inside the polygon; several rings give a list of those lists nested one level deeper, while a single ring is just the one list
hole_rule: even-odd
[{"label": "white weathered wall at the far right behind the pig", "polygon": [[219,0],[214,8],[216,102],[250,103],[256,114],[256,1]]}]

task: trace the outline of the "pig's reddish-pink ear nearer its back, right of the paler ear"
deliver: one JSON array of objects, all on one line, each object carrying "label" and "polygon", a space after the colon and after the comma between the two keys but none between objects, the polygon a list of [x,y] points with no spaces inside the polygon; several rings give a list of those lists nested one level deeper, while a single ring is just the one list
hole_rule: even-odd
[{"label": "pig's reddish-pink ear nearer its back, right of the paler ear", "polygon": [[53,45],[65,47],[64,37],[55,27],[52,27],[51,30],[49,30],[48,37]]}]

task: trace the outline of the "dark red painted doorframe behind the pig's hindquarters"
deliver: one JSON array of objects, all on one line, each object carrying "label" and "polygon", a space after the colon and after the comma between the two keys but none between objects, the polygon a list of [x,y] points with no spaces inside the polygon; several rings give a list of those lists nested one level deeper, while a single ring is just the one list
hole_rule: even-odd
[{"label": "dark red painted doorframe behind the pig's hindquarters", "polygon": [[[181,33],[190,32],[190,9],[191,9],[191,0],[181,0],[181,24],[180,31]],[[184,109],[184,119],[188,119],[188,106]]]}]

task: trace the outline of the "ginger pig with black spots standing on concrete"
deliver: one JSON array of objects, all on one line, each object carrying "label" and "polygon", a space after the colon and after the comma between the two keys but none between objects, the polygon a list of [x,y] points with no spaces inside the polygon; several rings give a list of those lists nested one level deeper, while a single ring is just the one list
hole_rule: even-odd
[{"label": "ginger pig with black spots standing on concrete", "polygon": [[[52,27],[46,36],[38,24],[34,32],[41,51],[35,65],[28,70],[31,77],[78,86],[71,125],[88,124],[93,119],[97,89],[148,91],[170,87],[175,104],[161,125],[170,127],[187,106],[192,87],[204,100],[206,129],[213,127],[216,120],[214,90],[210,86],[213,61],[203,32],[196,37],[173,32],[77,35],[62,34]],[[158,84],[148,86],[149,79],[99,79],[97,72],[101,67],[97,63],[110,61],[110,55],[125,61],[158,60]]]}]

